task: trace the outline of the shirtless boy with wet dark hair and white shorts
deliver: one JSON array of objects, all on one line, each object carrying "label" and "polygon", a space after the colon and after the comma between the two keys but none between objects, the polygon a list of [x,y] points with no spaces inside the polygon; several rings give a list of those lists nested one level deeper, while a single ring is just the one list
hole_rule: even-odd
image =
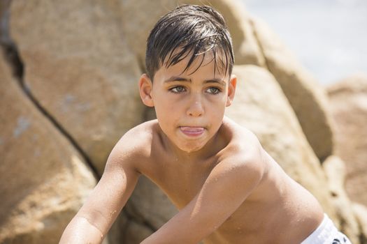
[{"label": "shirtless boy with wet dark hair and white shorts", "polygon": [[138,176],[180,210],[142,243],[348,243],[307,190],[224,117],[236,77],[220,13],[180,6],[147,40],[141,99],[157,120],[129,130],[110,153],[98,185],[60,243],[101,243]]}]

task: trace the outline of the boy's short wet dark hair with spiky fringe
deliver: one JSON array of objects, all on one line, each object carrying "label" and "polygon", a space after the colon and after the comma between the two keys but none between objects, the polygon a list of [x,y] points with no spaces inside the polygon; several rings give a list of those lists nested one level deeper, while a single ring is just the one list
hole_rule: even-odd
[{"label": "boy's short wet dark hair with spiky fringe", "polygon": [[210,51],[215,61],[214,73],[217,68],[225,68],[225,72],[231,75],[234,63],[232,40],[222,15],[210,6],[178,6],[161,17],[147,38],[147,75],[153,81],[161,66],[168,68],[191,55],[183,73],[203,54],[197,70]]}]

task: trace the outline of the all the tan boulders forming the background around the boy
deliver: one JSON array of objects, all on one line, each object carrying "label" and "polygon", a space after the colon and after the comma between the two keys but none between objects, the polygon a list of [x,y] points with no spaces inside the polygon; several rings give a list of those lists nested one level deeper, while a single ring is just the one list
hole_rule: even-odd
[{"label": "all the tan boulders forming the background around the boy", "polygon": [[[181,3],[224,15],[238,75],[227,116],[367,243],[367,75],[322,87],[236,0],[0,1],[0,243],[57,243],[117,140],[154,118],[138,96],[145,40]],[[139,243],[176,213],[141,178],[104,243]]]}]

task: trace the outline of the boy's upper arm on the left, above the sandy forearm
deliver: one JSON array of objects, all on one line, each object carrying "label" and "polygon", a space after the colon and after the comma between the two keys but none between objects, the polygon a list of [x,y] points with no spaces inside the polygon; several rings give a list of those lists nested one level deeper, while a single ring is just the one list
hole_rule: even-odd
[{"label": "boy's upper arm on the left, above the sandy forearm", "polygon": [[133,159],[123,143],[117,143],[108,157],[101,180],[76,215],[85,218],[103,236],[126,204],[138,181],[140,173],[136,170]]}]

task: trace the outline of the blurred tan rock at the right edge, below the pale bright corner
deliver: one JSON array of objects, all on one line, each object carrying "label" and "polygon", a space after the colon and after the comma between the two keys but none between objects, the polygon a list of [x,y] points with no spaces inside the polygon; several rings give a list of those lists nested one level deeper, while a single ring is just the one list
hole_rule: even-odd
[{"label": "blurred tan rock at the right edge, below the pale bright corner", "polygon": [[336,121],[336,155],[343,159],[345,188],[352,201],[367,205],[367,75],[356,75],[327,87]]}]

